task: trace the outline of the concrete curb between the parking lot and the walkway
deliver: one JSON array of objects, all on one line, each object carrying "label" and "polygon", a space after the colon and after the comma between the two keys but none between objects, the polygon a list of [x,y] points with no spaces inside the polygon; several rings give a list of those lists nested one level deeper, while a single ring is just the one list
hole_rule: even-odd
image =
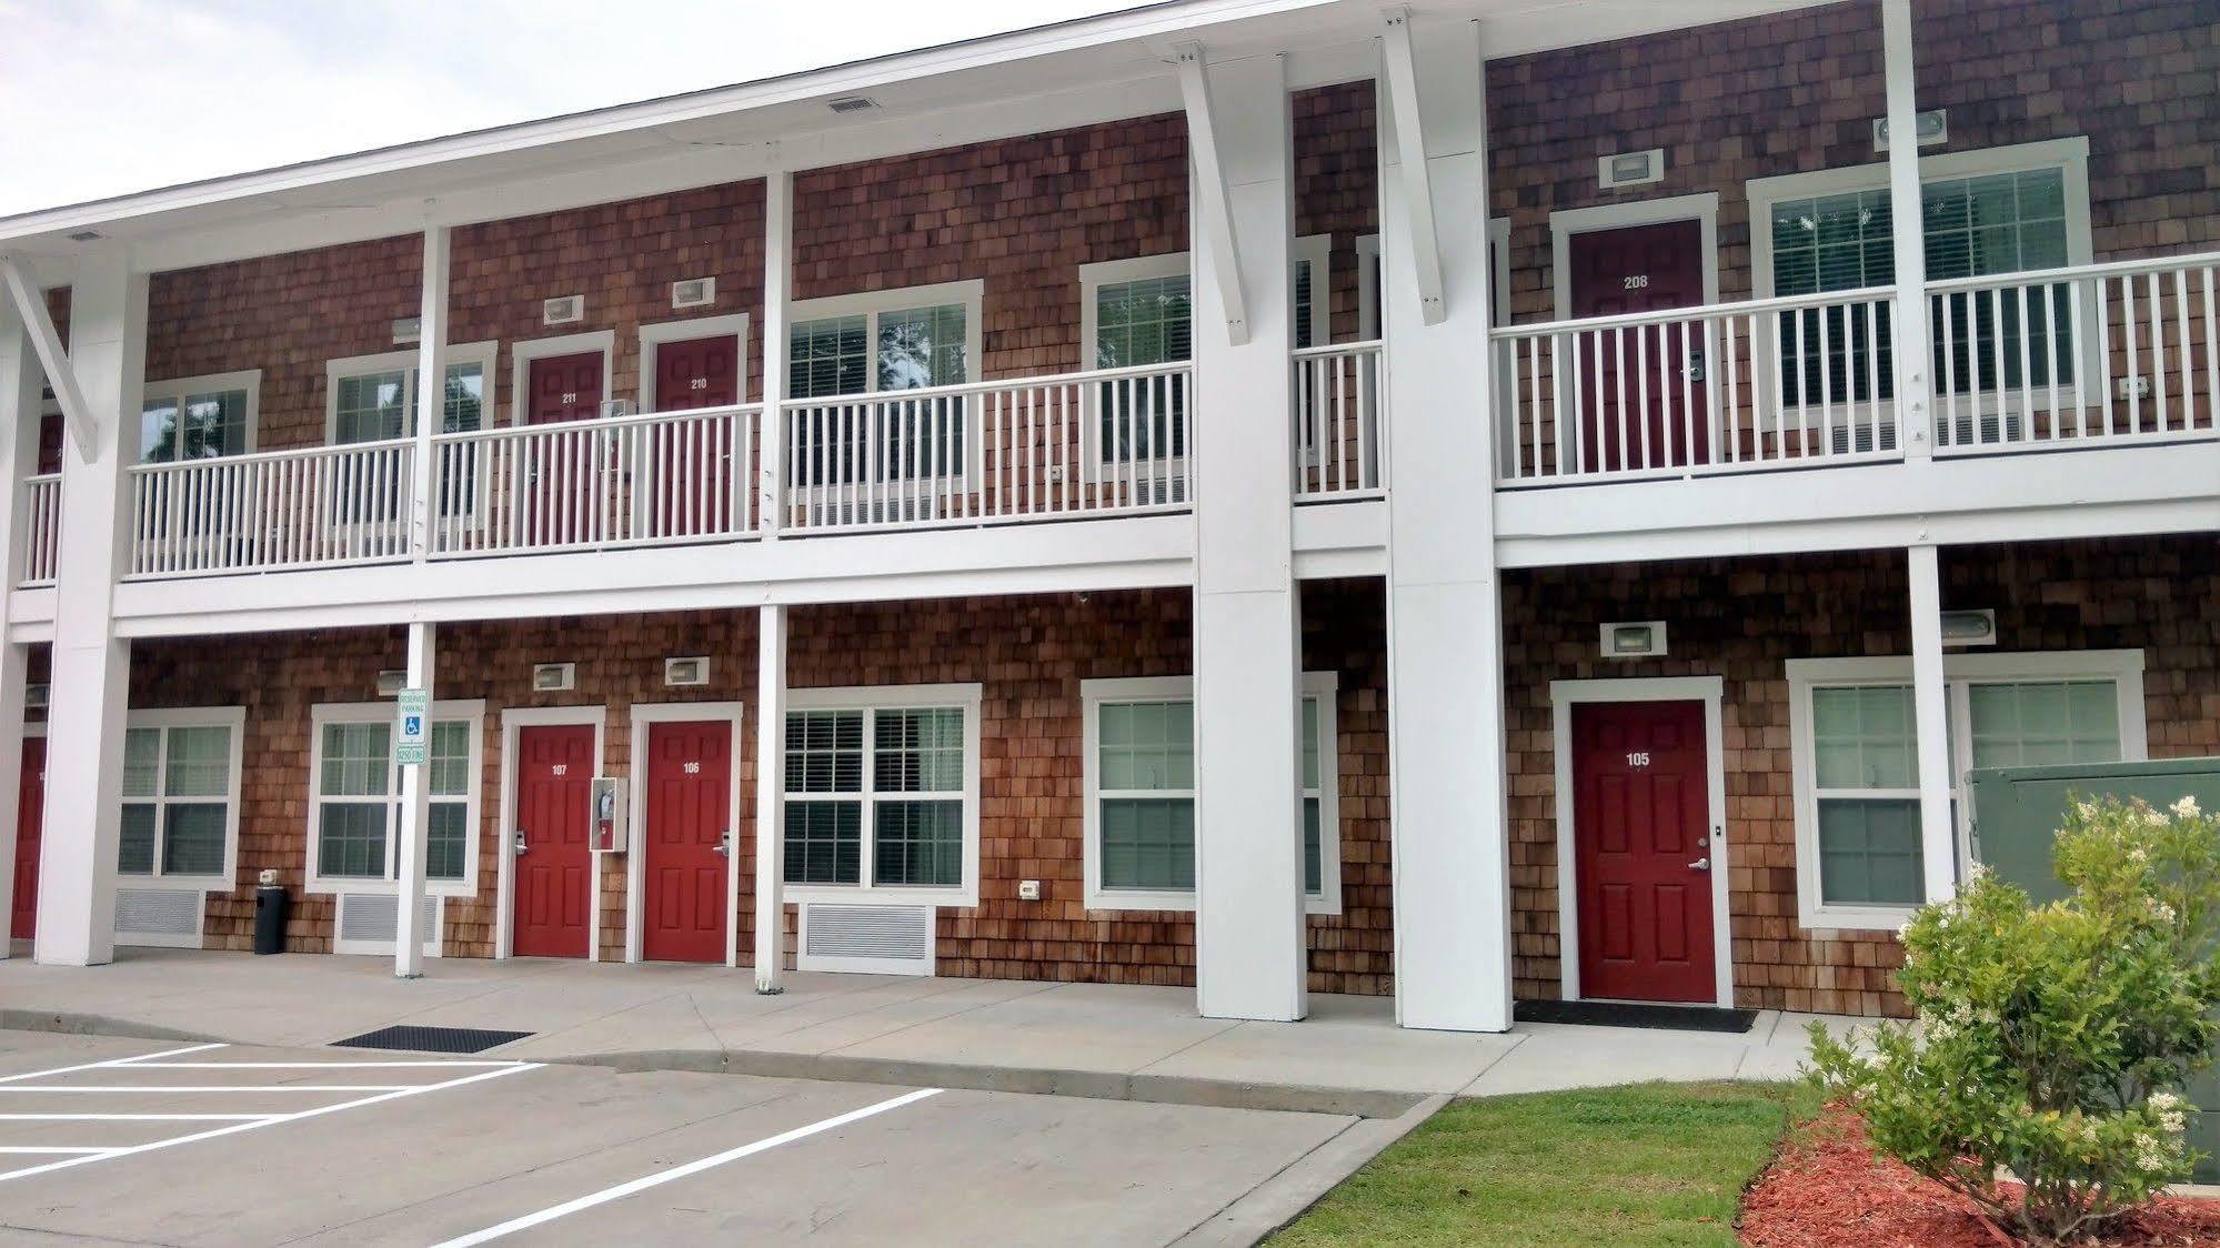
[{"label": "concrete curb between the parking lot and the walkway", "polygon": [[[4,1010],[0,1030],[44,1030],[62,1035],[113,1035],[127,1039],[233,1041],[222,1035],[135,1024],[107,1015],[56,1010]],[[437,1053],[428,1057],[440,1057]],[[504,1057],[493,1048],[480,1057]],[[650,1048],[637,1053],[579,1053],[564,1057],[517,1055],[517,1061],[551,1061],[564,1066],[606,1066],[610,1070],[688,1070],[697,1075],[759,1075],[766,1079],[819,1079],[830,1084],[892,1084],[906,1088],[961,1088],[970,1093],[1028,1093],[1037,1097],[1088,1097],[1097,1101],[1150,1101],[1168,1106],[1210,1106],[1234,1110],[1281,1110],[1352,1115],[1363,1119],[1399,1119],[1423,1093],[1390,1093],[1368,1088],[1319,1088],[1305,1084],[1254,1084],[1239,1079],[1197,1079],[1183,1075],[1121,1075],[1114,1070],[1057,1070],[1039,1066],[975,1066],[961,1061],[901,1061],[877,1057],[841,1057],[837,1053],[768,1053],[702,1048]]]}]

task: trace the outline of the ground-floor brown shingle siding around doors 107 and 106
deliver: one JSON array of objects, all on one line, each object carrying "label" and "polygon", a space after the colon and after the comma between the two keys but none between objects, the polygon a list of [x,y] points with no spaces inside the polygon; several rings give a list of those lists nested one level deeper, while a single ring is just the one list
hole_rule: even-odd
[{"label": "ground-floor brown shingle siding around doors 107 and 106", "polygon": [[[1310,919],[1310,986],[1392,990],[1388,875],[1385,635],[1379,582],[1319,582],[1303,591],[1305,666],[1339,675],[1341,915]],[[1094,677],[1185,675],[1192,624],[1185,591],[981,597],[795,608],[790,688],[977,682],[981,700],[977,908],[941,906],[941,975],[1194,984],[1194,917],[1088,910],[1081,902],[1081,697]],[[666,688],[666,655],[710,655],[710,684]],[[577,688],[531,693],[535,662],[575,662]],[[400,631],[349,628],[142,642],[131,704],[244,706],[238,886],[209,899],[206,944],[246,948],[253,882],[278,868],[295,890],[286,946],[331,948],[331,897],[302,895],[309,826],[309,708],[373,702],[380,668],[402,664]],[[477,831],[477,897],[446,904],[444,948],[491,957],[495,835],[502,786],[500,713],[522,706],[606,706],[604,773],[630,768],[635,702],[746,704],[733,782],[755,784],[755,615],[666,613],[440,631],[440,700],[486,700]],[[744,873],[739,957],[753,957],[755,817],[741,804],[735,846]],[[602,875],[604,959],[624,957],[624,859]],[[1041,902],[1019,902],[1041,879]]]}]

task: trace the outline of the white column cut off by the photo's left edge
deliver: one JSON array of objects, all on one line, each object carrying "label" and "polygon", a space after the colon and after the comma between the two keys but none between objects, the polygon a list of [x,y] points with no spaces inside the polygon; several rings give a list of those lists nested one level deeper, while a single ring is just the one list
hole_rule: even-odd
[{"label": "white column cut off by the photo's left edge", "polygon": [[[40,378],[16,304],[0,298],[0,620],[24,568],[22,477],[38,466]],[[0,642],[0,897],[16,897],[16,831],[22,773],[22,700],[29,646]],[[38,882],[31,884],[38,888]],[[0,919],[4,922],[4,919]],[[0,957],[9,955],[0,930]]]}]

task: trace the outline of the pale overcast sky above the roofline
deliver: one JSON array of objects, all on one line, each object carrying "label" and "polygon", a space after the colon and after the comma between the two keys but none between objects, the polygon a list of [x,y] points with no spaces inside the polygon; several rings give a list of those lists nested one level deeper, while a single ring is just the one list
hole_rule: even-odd
[{"label": "pale overcast sky above the roofline", "polygon": [[0,215],[1139,0],[0,0]]}]

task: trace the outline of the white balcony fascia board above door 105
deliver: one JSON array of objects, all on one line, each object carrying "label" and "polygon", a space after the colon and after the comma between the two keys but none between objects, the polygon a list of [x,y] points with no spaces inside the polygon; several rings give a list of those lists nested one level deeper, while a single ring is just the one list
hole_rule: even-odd
[{"label": "white balcony fascia board above door 105", "polygon": [[1501,491],[1503,566],[2220,526],[2220,442]]}]

